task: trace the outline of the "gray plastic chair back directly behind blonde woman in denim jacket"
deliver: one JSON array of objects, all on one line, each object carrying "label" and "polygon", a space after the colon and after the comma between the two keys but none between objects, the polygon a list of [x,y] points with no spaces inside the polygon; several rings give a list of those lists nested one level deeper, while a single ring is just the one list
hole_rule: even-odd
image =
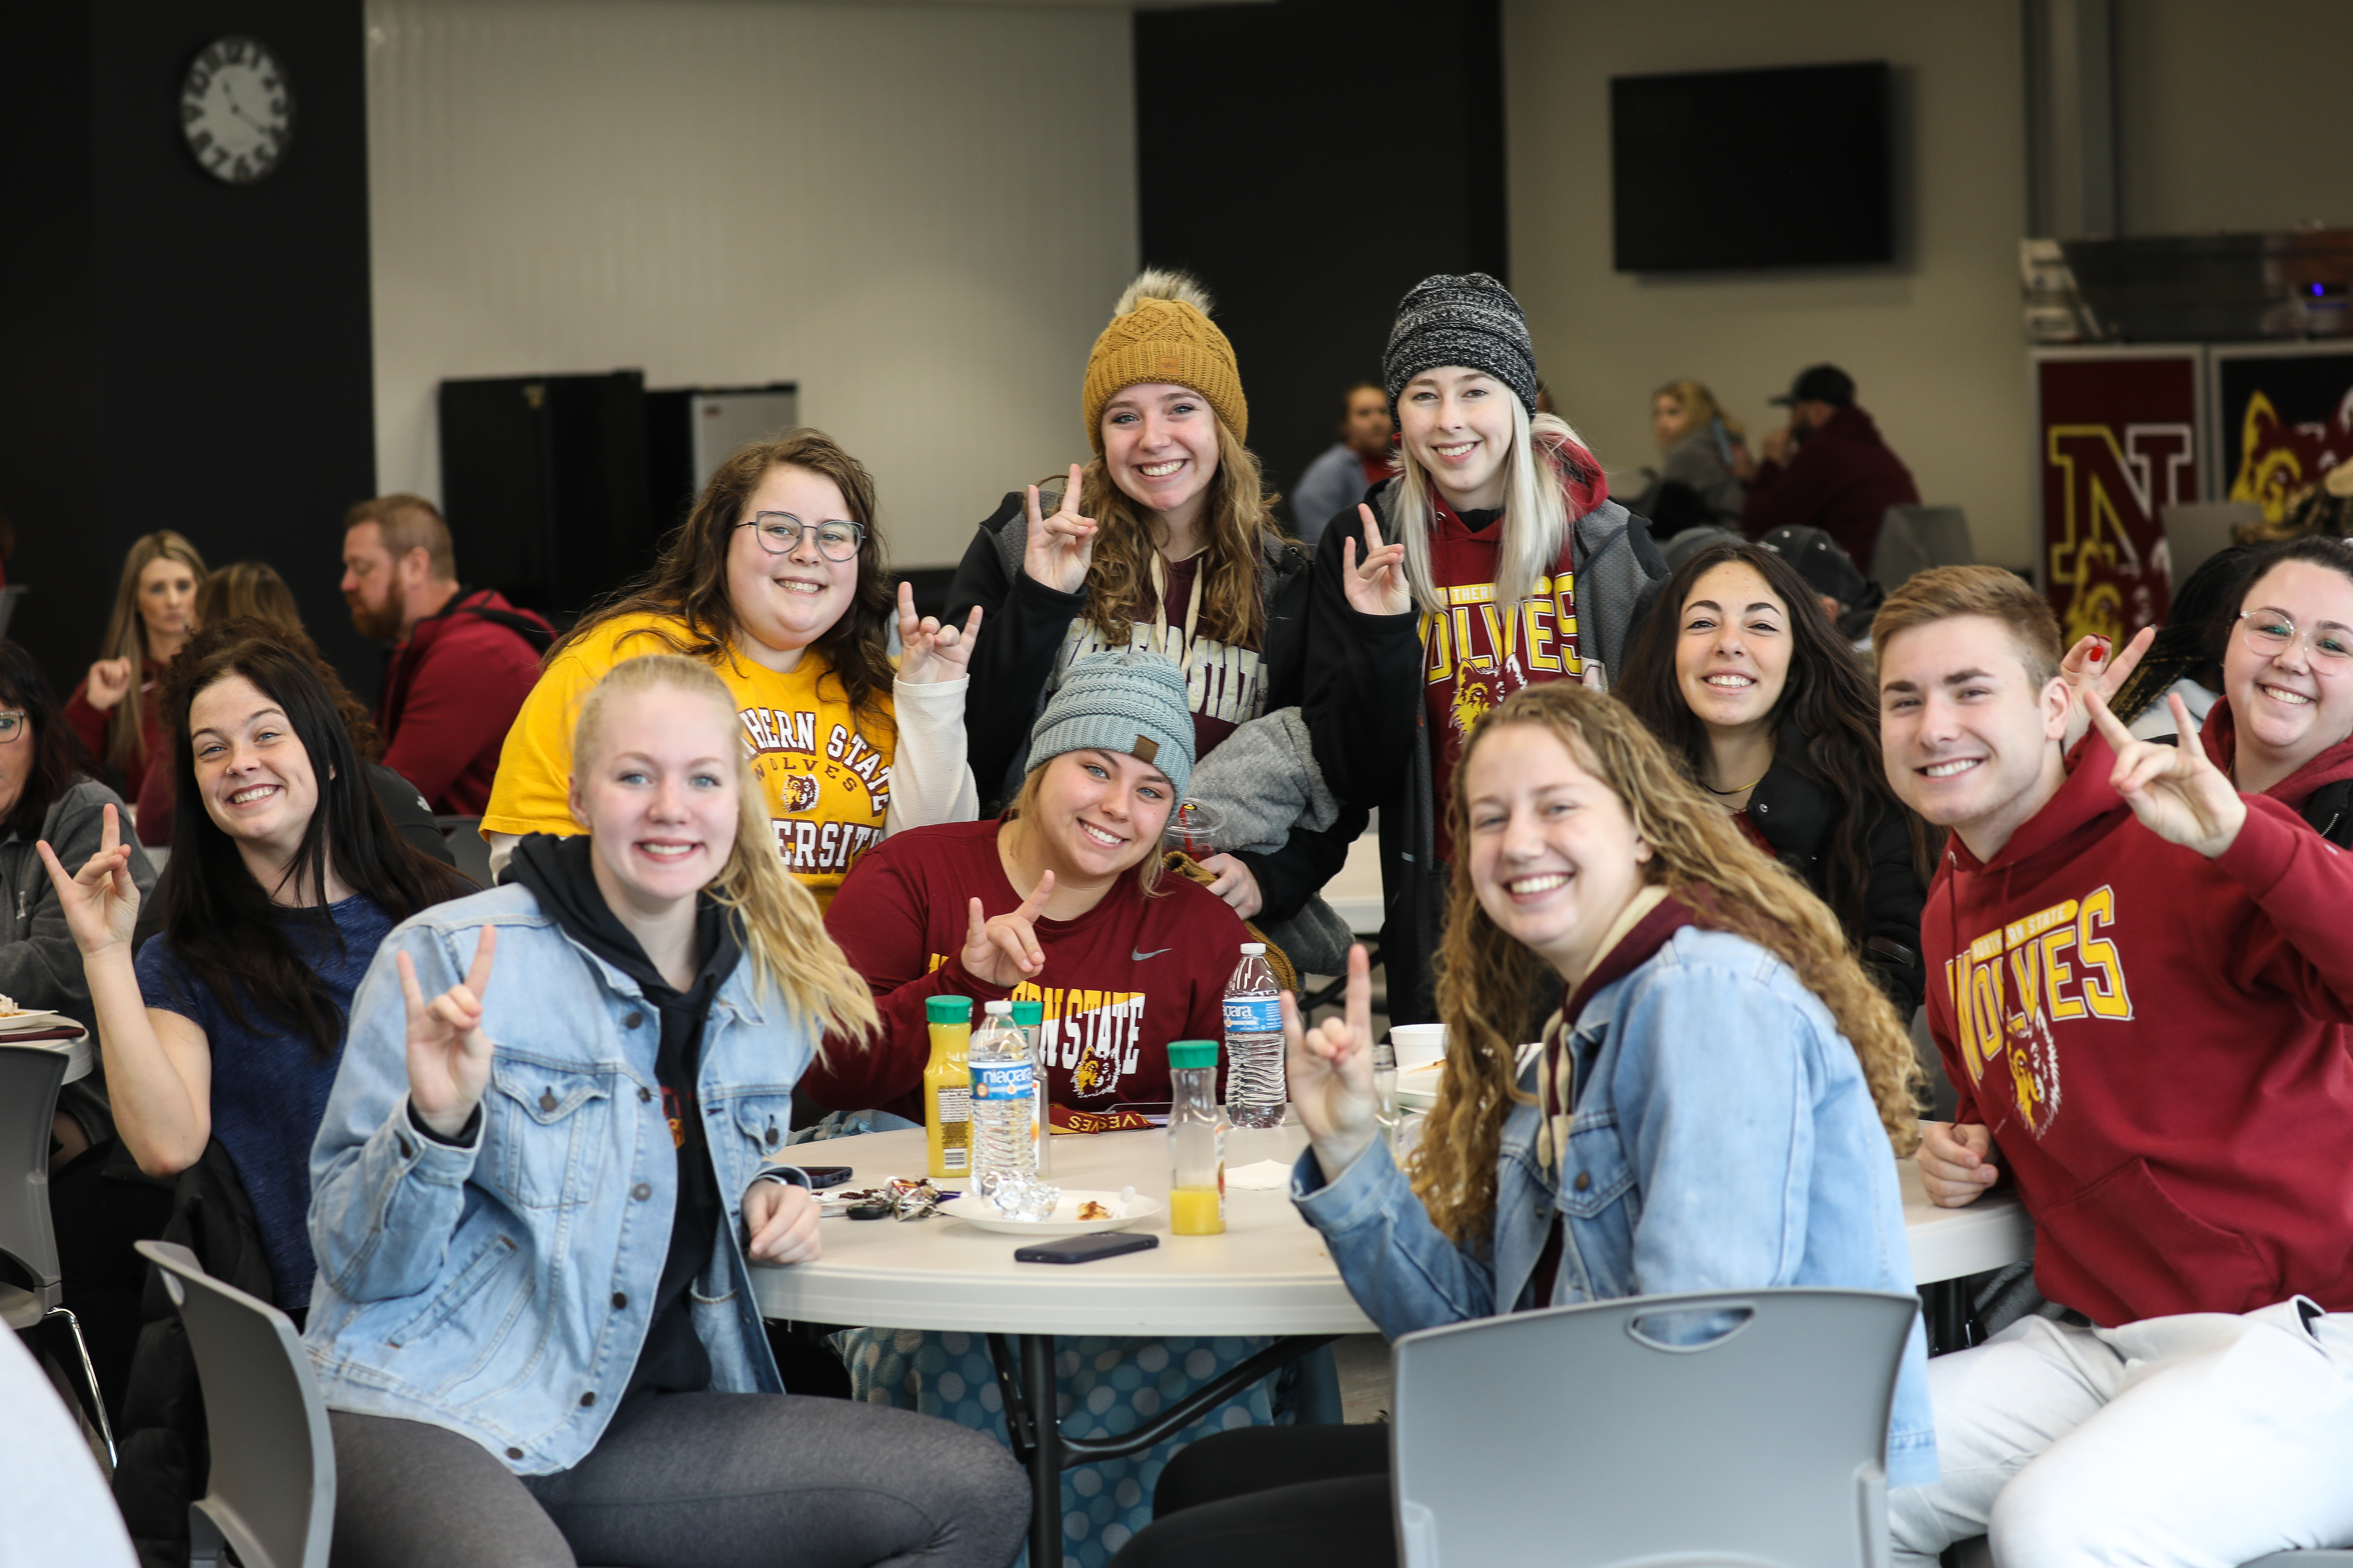
[{"label": "gray plastic chair back directly behind blonde woman in denim jacket", "polygon": [[184,1246],[141,1241],[188,1326],[212,1434],[209,1490],[188,1505],[188,1561],[327,1568],[334,1535],[334,1439],[294,1321],[221,1284]]}]

